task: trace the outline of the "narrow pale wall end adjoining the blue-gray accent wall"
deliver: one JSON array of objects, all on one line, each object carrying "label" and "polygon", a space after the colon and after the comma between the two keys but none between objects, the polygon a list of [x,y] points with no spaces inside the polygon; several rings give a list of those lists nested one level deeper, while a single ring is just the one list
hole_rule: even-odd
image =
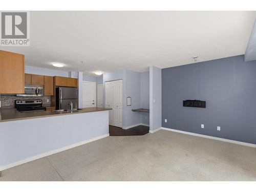
[{"label": "narrow pale wall end adjoining the blue-gray accent wall", "polygon": [[150,66],[150,131],[162,126],[162,71]]}]

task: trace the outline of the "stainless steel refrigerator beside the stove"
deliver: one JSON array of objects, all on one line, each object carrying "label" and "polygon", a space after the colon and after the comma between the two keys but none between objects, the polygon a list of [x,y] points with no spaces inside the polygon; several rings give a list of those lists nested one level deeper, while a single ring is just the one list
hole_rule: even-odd
[{"label": "stainless steel refrigerator beside the stove", "polygon": [[78,90],[76,88],[57,87],[56,90],[56,110],[70,109],[70,102],[73,108],[78,109]]}]

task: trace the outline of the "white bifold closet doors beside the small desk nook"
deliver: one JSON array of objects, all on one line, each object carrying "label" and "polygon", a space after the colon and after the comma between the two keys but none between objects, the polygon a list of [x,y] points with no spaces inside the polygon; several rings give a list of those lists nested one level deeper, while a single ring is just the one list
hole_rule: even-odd
[{"label": "white bifold closet doors beside the small desk nook", "polygon": [[109,113],[110,125],[122,127],[123,102],[122,80],[105,82],[105,107],[112,108]]}]

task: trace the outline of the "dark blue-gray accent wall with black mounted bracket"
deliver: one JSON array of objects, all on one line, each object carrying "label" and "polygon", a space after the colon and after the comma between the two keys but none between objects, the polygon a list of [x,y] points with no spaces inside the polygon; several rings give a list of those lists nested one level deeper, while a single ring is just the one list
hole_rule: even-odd
[{"label": "dark blue-gray accent wall with black mounted bracket", "polygon": [[256,61],[244,55],[162,69],[162,127],[256,144],[255,98]]}]

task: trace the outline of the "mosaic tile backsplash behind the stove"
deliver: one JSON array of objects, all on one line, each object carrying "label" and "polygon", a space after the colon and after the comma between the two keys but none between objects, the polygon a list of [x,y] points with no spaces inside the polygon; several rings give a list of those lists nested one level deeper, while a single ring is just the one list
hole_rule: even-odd
[{"label": "mosaic tile backsplash behind the stove", "polygon": [[[41,99],[43,105],[51,104],[51,96],[42,96],[42,97],[17,97],[16,95],[0,95],[1,107],[3,106],[13,106],[15,100],[28,100],[28,99]],[[47,99],[49,101],[47,102]]]}]

